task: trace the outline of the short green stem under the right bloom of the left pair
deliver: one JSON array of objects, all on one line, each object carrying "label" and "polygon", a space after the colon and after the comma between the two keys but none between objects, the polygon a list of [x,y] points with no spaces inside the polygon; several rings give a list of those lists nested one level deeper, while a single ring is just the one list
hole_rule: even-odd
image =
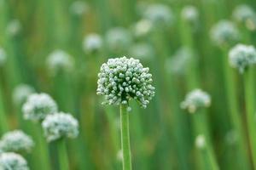
[{"label": "short green stem under the right bloom of the left pair", "polygon": [[60,139],[59,143],[57,144],[58,147],[58,157],[59,157],[59,165],[60,170],[68,170],[68,157],[67,157],[67,149],[66,143],[64,139]]}]

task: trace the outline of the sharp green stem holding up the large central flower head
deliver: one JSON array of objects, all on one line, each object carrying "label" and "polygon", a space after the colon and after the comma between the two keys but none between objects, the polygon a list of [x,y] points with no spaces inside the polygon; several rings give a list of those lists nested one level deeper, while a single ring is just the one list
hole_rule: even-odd
[{"label": "sharp green stem holding up the large central flower head", "polygon": [[123,170],[131,170],[131,148],[129,134],[129,113],[126,105],[120,105],[121,144],[123,151]]}]

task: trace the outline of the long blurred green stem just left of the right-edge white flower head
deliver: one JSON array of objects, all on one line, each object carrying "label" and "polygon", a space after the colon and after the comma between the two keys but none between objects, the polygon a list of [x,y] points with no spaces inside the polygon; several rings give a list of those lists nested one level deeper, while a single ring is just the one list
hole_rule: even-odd
[{"label": "long blurred green stem just left of the right-edge white flower head", "polygon": [[237,151],[236,158],[239,162],[241,169],[249,169],[249,157],[247,155],[247,140],[244,135],[245,129],[243,129],[241,117],[239,116],[238,101],[236,98],[236,82],[234,82],[234,73],[232,72],[227,56],[227,49],[224,49],[222,57],[223,71],[224,71],[224,85],[228,102],[228,109],[230,112],[230,119],[232,127],[236,130],[238,134],[237,139]]}]

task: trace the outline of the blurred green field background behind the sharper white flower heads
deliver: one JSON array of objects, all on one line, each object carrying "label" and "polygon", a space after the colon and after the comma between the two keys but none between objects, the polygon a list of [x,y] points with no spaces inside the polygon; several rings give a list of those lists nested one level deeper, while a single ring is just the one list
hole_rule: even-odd
[{"label": "blurred green field background behind the sharper white flower heads", "polygon": [[[231,98],[238,101],[247,158],[237,149],[223,66],[230,67],[223,59],[230,47],[256,41],[255,15],[236,19],[234,11],[241,4],[253,12],[256,8],[253,0],[0,0],[0,46],[6,54],[0,59],[0,112],[9,127],[0,134],[22,129],[36,139],[34,123],[22,118],[24,100],[17,99],[26,96],[24,88],[17,94],[26,84],[50,94],[61,111],[79,120],[79,138],[67,140],[70,169],[121,169],[119,107],[101,105],[96,81],[102,63],[126,56],[150,68],[156,88],[147,109],[131,103],[134,169],[206,169],[197,160],[195,117],[180,108],[195,88],[212,97],[202,119],[220,169],[253,169],[242,76],[232,70],[236,95]],[[212,36],[212,26],[220,20],[230,20],[239,36],[222,40],[229,34],[225,26],[228,31]],[[49,59],[56,50],[68,59]],[[44,169],[37,141],[25,157],[31,169]],[[55,143],[49,144],[49,159],[58,169]]]}]

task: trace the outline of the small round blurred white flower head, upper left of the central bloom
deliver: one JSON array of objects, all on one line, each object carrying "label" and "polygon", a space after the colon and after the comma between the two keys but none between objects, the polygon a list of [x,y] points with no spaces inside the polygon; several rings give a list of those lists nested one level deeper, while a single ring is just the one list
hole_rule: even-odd
[{"label": "small round blurred white flower head, upper left of the central bloom", "polygon": [[83,48],[85,52],[93,53],[102,49],[102,37],[96,33],[91,33],[84,37]]}]

